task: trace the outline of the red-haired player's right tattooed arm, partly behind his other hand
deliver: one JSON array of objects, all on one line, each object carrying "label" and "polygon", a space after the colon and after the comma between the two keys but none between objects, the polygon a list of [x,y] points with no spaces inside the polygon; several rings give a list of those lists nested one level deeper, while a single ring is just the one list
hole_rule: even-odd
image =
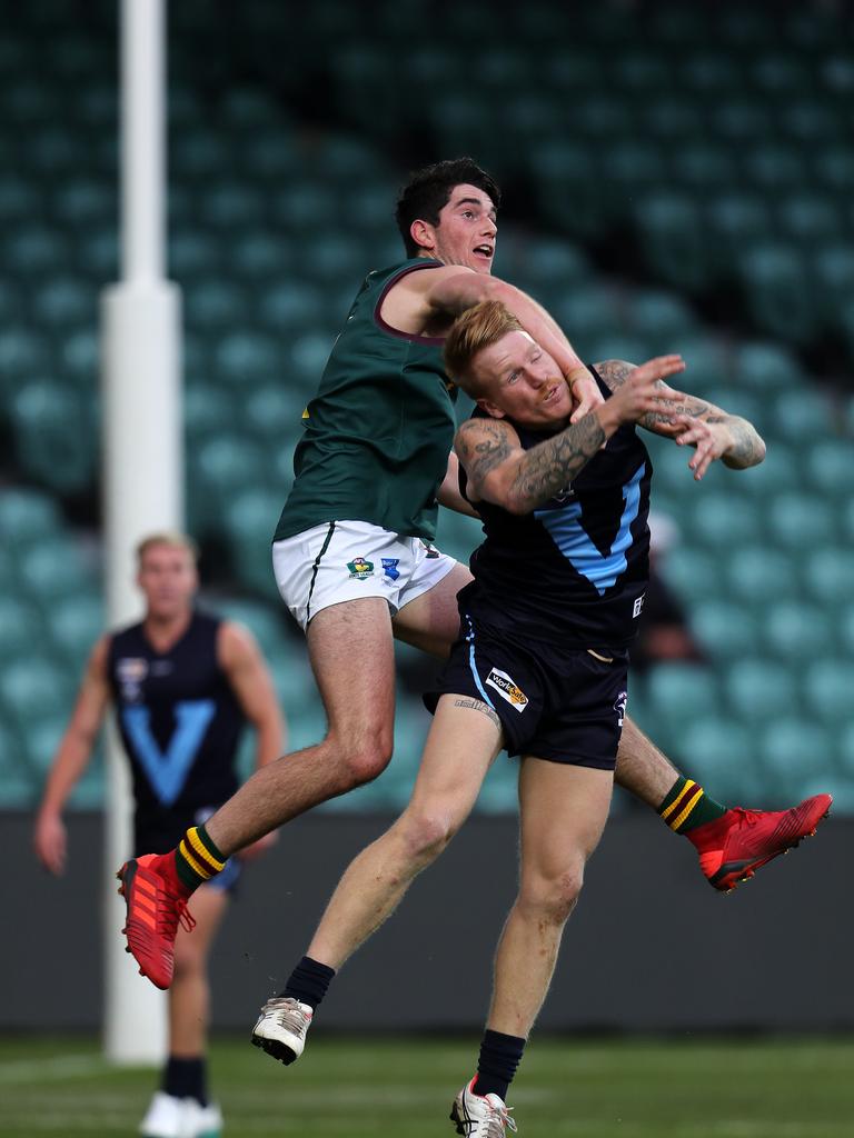
[{"label": "red-haired player's right tattooed arm, partly behind his other hand", "polygon": [[[596,364],[596,370],[611,391],[617,391],[635,369],[624,360],[606,360]],[[744,470],[765,457],[765,444],[753,423],[692,395],[663,397],[638,422],[656,435],[672,438],[678,446],[696,447],[688,465],[698,481],[715,459],[732,470]]]}]

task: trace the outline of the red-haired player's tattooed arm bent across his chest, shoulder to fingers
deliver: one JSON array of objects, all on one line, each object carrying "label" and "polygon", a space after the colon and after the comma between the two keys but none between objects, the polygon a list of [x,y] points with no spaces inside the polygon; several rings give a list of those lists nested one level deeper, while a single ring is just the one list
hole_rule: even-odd
[{"label": "red-haired player's tattooed arm bent across his chest, shoulder to fingers", "polygon": [[565,490],[624,422],[638,422],[666,396],[684,399],[663,384],[682,371],[679,356],[660,356],[634,369],[631,384],[577,422],[524,451],[519,436],[503,419],[469,419],[454,440],[468,476],[467,494],[501,505],[510,513],[531,513]]}]

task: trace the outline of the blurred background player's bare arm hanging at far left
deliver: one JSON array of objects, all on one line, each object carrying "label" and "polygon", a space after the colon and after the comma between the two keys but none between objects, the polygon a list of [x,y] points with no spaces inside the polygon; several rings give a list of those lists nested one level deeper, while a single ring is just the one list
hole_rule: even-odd
[{"label": "blurred background player's bare arm hanging at far left", "polygon": [[44,794],[35,816],[35,856],[51,873],[65,869],[67,838],[63,809],[92,756],[104,712],[109,700],[107,651],[109,638],[101,636],[89,657],[83,683],[72,717],[48,774]]}]

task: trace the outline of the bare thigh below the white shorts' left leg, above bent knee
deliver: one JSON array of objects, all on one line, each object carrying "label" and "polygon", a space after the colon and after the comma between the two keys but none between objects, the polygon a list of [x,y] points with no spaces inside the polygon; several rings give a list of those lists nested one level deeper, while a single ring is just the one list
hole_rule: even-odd
[{"label": "bare thigh below the white shorts' left leg, above bent knee", "polygon": [[332,604],[306,633],[309,657],[332,729],[394,721],[394,643],[388,603],[366,596]]}]

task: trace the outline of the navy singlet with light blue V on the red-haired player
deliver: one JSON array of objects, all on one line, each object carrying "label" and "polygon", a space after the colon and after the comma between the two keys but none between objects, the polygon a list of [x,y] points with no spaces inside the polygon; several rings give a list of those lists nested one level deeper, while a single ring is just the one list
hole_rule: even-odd
[{"label": "navy singlet with light blue V on the red-haired player", "polygon": [[[597,376],[606,398],[610,390]],[[476,411],[475,418],[485,417]],[[528,451],[549,435],[508,420]],[[649,578],[652,464],[634,426],[621,427],[566,489],[533,513],[476,502],[486,539],[460,610],[499,630],[578,648],[627,644]],[[466,494],[460,465],[460,489]]]}]

